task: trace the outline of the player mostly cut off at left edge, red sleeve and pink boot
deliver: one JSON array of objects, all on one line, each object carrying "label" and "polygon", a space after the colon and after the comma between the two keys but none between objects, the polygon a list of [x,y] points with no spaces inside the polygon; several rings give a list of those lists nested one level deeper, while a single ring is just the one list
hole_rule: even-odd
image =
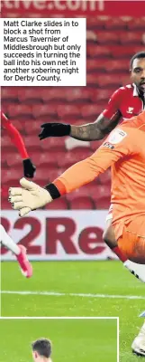
[{"label": "player mostly cut off at left edge, red sleeve and pink boot", "polygon": [[[9,119],[5,117],[5,114],[1,111],[1,124],[2,128],[7,131],[7,134],[10,136],[14,146],[18,149],[21,157],[23,158],[23,175],[26,177],[33,177],[36,167],[32,164],[31,158],[28,156],[28,152],[24,146],[23,138],[19,131],[14,127]],[[3,193],[3,190],[2,190]],[[32,265],[28,261],[26,255],[26,248],[23,245],[17,245],[14,243],[13,239],[5,232],[4,226],[0,225],[1,240],[0,242],[5,245],[5,247],[11,250],[23,272],[23,275],[27,278],[32,276]]]}]

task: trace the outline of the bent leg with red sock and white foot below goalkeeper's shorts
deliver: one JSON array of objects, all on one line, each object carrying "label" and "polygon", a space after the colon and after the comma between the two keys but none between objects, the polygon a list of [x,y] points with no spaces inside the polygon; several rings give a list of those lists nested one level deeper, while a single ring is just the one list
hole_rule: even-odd
[{"label": "bent leg with red sock and white foot below goalkeeper's shorts", "polygon": [[145,265],[139,263],[137,264],[136,262],[131,262],[127,258],[126,254],[122,252],[122,250],[119,248],[115,240],[115,235],[112,226],[112,214],[108,214],[107,216],[106,227],[104,230],[103,237],[104,237],[104,243],[106,243],[110,247],[110,249],[118,256],[118,258],[123,262],[125,268],[131,271],[131,274],[133,274],[136,278],[140,279],[140,281],[145,282]]}]

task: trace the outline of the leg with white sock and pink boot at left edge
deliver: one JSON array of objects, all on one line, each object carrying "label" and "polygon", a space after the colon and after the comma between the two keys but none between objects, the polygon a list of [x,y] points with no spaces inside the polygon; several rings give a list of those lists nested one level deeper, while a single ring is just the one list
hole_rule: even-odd
[{"label": "leg with white sock and pink boot at left edge", "polygon": [[32,265],[28,261],[26,249],[23,245],[17,245],[13,239],[5,232],[4,226],[0,225],[1,243],[11,252],[14,253],[17,261],[19,262],[23,275],[27,278],[32,276]]}]

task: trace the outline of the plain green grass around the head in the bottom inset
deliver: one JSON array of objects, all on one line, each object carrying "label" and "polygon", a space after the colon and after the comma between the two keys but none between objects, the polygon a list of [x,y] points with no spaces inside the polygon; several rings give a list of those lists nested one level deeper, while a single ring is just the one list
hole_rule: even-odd
[{"label": "plain green grass around the head in the bottom inset", "polygon": [[54,362],[116,362],[116,319],[0,320],[0,360],[32,361],[31,342],[50,338]]}]

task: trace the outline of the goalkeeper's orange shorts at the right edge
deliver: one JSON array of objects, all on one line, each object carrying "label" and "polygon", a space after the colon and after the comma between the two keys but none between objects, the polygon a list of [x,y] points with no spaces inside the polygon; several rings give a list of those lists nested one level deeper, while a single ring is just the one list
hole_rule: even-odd
[{"label": "goalkeeper's orange shorts at the right edge", "polygon": [[145,216],[123,225],[118,246],[131,262],[145,264]]}]

